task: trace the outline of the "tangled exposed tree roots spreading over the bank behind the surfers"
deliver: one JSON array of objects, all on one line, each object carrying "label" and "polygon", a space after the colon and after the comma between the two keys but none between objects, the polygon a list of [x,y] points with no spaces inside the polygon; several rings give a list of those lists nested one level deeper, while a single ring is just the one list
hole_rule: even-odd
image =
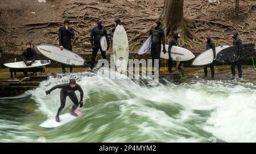
[{"label": "tangled exposed tree roots spreading over the bank behind the surfers", "polygon": [[[71,26],[76,32],[76,37],[72,40],[72,44],[75,45],[75,48],[82,49],[82,51],[91,51],[90,31],[93,27],[97,26],[97,20],[104,19],[106,21],[105,28],[107,31],[110,31],[113,28],[114,18],[120,18],[122,20],[122,24],[126,28],[130,49],[133,51],[147,39],[148,33],[152,28],[152,22],[155,19],[158,19],[158,15],[163,10],[163,4],[144,0],[99,1],[100,3],[108,3],[108,5],[100,5],[97,1],[91,3],[86,1],[67,3],[67,9],[62,14],[63,17],[71,19]],[[230,3],[229,1],[221,2]],[[150,5],[154,5],[154,9],[150,9],[150,7],[148,7]],[[102,6],[106,7],[104,8]],[[205,48],[202,43],[205,35],[212,36],[212,38],[218,40],[219,43],[225,43],[225,36],[222,36],[222,34],[234,29],[238,30],[240,34],[255,34],[255,24],[234,24],[225,18],[208,19],[209,15],[205,11],[198,13],[200,10],[214,11],[214,7],[216,7],[216,5],[209,5],[208,2],[202,2],[200,4],[197,3],[197,5],[189,10],[190,13],[187,13],[187,15],[189,14],[188,16],[191,16],[191,18],[183,18],[183,23],[179,26],[180,30],[182,30],[182,37],[179,39],[181,47],[186,46],[191,49]],[[249,10],[251,11],[255,9],[255,4],[252,4],[249,7]],[[226,10],[224,10],[224,12],[225,11]],[[256,21],[256,19],[254,20]],[[63,21],[51,21],[27,23],[24,24],[23,27],[27,27],[26,30],[29,30],[30,32],[35,29],[47,28],[48,32],[46,32],[46,35],[57,42],[58,33],[57,31],[54,32],[51,30],[51,28],[56,29],[56,26],[61,25],[63,25]],[[4,29],[1,28],[1,30],[6,31],[6,29]],[[18,30],[18,28],[16,30]],[[168,34],[166,42],[168,42],[169,37]],[[247,39],[254,41],[255,37]]]}]

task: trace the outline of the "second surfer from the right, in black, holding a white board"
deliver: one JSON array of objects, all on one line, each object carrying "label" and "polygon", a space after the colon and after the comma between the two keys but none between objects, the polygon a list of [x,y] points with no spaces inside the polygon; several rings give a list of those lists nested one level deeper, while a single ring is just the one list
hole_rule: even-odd
[{"label": "second surfer from the right, in black, holding a white board", "polygon": [[215,51],[215,45],[212,43],[212,40],[210,40],[210,36],[205,36],[204,42],[207,44],[207,49],[212,49],[213,51],[213,61],[209,65],[204,66],[204,76],[207,77],[208,71],[207,68],[210,66],[210,71],[212,72],[212,78],[214,78],[214,60],[216,57],[216,51]]}]

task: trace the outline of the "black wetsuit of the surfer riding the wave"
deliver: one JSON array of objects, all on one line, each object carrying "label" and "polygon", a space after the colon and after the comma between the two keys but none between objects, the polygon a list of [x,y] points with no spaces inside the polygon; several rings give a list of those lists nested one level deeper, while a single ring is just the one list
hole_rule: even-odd
[{"label": "black wetsuit of the surfer riding the wave", "polygon": [[60,108],[58,110],[57,116],[60,115],[61,110],[65,107],[66,104],[66,98],[67,96],[71,99],[71,101],[74,103],[71,111],[74,112],[77,108],[77,106],[79,106],[79,101],[77,99],[76,90],[80,91],[80,100],[82,100],[82,98],[84,97],[84,91],[82,91],[81,86],[79,84],[76,84],[76,86],[74,88],[71,88],[71,86],[69,84],[60,84],[60,85],[56,85],[53,86],[53,88],[51,88],[49,91],[49,93],[51,93],[52,90],[55,89],[61,89],[60,90]]}]

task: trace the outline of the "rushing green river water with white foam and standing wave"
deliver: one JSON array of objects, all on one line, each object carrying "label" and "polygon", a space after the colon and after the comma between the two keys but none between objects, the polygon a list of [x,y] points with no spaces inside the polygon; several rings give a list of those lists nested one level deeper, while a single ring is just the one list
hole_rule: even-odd
[{"label": "rushing green river water with white foam and standing wave", "polygon": [[[229,74],[219,70],[216,80],[205,80],[192,73],[157,86],[89,72],[51,77],[35,90],[0,98],[0,142],[255,142],[256,71],[243,69],[243,80]],[[39,127],[60,106],[60,90],[45,91],[69,78],[84,90],[82,116]],[[62,113],[71,107],[67,98]]]}]

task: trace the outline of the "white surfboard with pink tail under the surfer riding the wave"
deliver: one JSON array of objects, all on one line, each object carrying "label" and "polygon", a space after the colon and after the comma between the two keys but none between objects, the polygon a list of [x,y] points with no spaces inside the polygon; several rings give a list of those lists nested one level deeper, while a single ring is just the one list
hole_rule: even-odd
[{"label": "white surfboard with pink tail under the surfer riding the wave", "polygon": [[[79,111],[75,111],[76,114],[81,116],[82,114]],[[55,128],[59,127],[65,123],[71,122],[72,120],[79,118],[79,116],[71,115],[70,113],[61,114],[59,116],[60,122],[56,122],[55,118],[48,119],[45,122],[41,123],[39,126],[43,128]]]}]

